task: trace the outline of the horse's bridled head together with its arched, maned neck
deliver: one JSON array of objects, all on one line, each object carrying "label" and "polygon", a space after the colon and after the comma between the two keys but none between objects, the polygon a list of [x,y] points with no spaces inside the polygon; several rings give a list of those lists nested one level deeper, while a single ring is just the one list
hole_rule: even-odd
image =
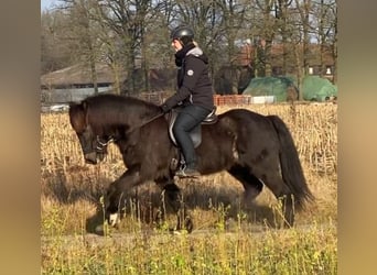
[{"label": "horse's bridled head together with its arched, maned neck", "polygon": [[155,105],[112,94],[88,97],[79,103],[69,105],[71,125],[88,164],[103,161],[107,145],[114,139],[125,140],[133,130],[161,116]]}]

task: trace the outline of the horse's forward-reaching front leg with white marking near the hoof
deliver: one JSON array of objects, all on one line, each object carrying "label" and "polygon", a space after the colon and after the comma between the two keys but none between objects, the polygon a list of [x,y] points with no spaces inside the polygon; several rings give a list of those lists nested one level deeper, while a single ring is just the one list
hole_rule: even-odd
[{"label": "horse's forward-reaching front leg with white marking near the hoof", "polygon": [[125,199],[123,194],[142,183],[139,169],[128,169],[117,180],[110,184],[106,193],[105,218],[110,226],[116,226],[119,207]]}]

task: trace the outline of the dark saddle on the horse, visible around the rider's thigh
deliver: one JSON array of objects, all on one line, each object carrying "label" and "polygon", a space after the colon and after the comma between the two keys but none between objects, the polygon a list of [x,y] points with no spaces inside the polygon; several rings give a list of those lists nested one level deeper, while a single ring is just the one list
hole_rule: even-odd
[{"label": "dark saddle on the horse, visible around the rider's thigh", "polygon": [[[196,148],[198,145],[201,145],[202,143],[202,125],[203,124],[213,124],[217,121],[217,114],[216,114],[216,106],[214,107],[214,109],[212,110],[212,112],[202,121],[201,124],[198,124],[197,127],[195,127],[191,132],[190,132],[190,136],[191,140],[194,143],[194,147]],[[180,109],[172,109],[169,113],[169,118],[168,118],[168,122],[169,122],[169,135],[170,139],[172,140],[172,142],[174,143],[175,146],[177,146],[176,144],[176,140],[173,133],[173,127],[176,120],[176,117],[180,113]]]}]

